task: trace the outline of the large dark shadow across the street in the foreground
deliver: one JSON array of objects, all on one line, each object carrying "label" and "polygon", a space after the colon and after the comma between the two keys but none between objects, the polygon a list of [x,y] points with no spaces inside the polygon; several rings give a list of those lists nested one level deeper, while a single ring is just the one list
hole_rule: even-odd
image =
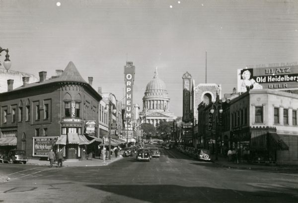
[{"label": "large dark shadow across the street in the foreground", "polygon": [[[87,187],[150,203],[297,203],[296,189],[272,186],[269,191],[239,191],[177,185],[86,185]],[[166,195],[165,195],[166,194]]]}]

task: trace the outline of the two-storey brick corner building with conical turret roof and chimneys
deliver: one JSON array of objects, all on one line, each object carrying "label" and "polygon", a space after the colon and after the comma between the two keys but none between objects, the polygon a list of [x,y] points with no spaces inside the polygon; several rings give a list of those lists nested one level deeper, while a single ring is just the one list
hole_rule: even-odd
[{"label": "two-storey brick corner building with conical turret roof and chimneys", "polygon": [[[83,158],[88,153],[87,145],[94,141],[84,134],[85,121],[98,125],[102,97],[91,86],[93,78],[89,77],[86,83],[73,62],[55,77],[47,80],[46,74],[39,72],[40,81],[31,84],[28,77],[23,77],[23,86],[16,89],[10,81],[8,92],[0,94],[0,148],[21,149],[28,157],[40,157],[46,156],[50,148],[59,147],[67,159]],[[97,135],[96,128],[94,136]],[[43,143],[47,149],[33,144],[39,137],[53,138],[50,143]]]}]

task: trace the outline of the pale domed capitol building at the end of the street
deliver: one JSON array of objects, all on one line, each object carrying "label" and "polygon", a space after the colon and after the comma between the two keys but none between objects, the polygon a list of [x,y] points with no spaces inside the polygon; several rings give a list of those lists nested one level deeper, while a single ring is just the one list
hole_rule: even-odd
[{"label": "pale domed capitol building at the end of the street", "polygon": [[158,78],[157,67],[153,79],[147,84],[143,97],[143,111],[140,116],[144,123],[151,123],[156,127],[160,121],[172,121],[177,118],[169,111],[170,98],[165,83]]}]

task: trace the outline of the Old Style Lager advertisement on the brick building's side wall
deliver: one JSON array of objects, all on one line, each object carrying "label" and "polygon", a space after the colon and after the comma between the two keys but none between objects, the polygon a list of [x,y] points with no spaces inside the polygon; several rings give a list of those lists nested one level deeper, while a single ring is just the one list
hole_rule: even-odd
[{"label": "Old Style Lager advertisement on the brick building's side wall", "polygon": [[58,137],[33,137],[32,156],[47,157]]}]

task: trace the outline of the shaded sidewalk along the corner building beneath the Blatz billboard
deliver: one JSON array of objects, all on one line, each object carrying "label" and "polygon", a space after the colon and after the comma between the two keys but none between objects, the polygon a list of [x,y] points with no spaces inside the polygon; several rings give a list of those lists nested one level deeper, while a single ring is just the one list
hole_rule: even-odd
[{"label": "shaded sidewalk along the corner building beneath the Blatz billboard", "polygon": [[227,157],[218,156],[218,160],[214,161],[215,164],[226,168],[236,168],[245,170],[258,170],[258,171],[271,171],[271,172],[284,172],[284,173],[297,173],[298,166],[292,165],[265,165],[265,164],[252,164],[239,162],[239,164],[234,164],[233,162],[227,161]]}]

